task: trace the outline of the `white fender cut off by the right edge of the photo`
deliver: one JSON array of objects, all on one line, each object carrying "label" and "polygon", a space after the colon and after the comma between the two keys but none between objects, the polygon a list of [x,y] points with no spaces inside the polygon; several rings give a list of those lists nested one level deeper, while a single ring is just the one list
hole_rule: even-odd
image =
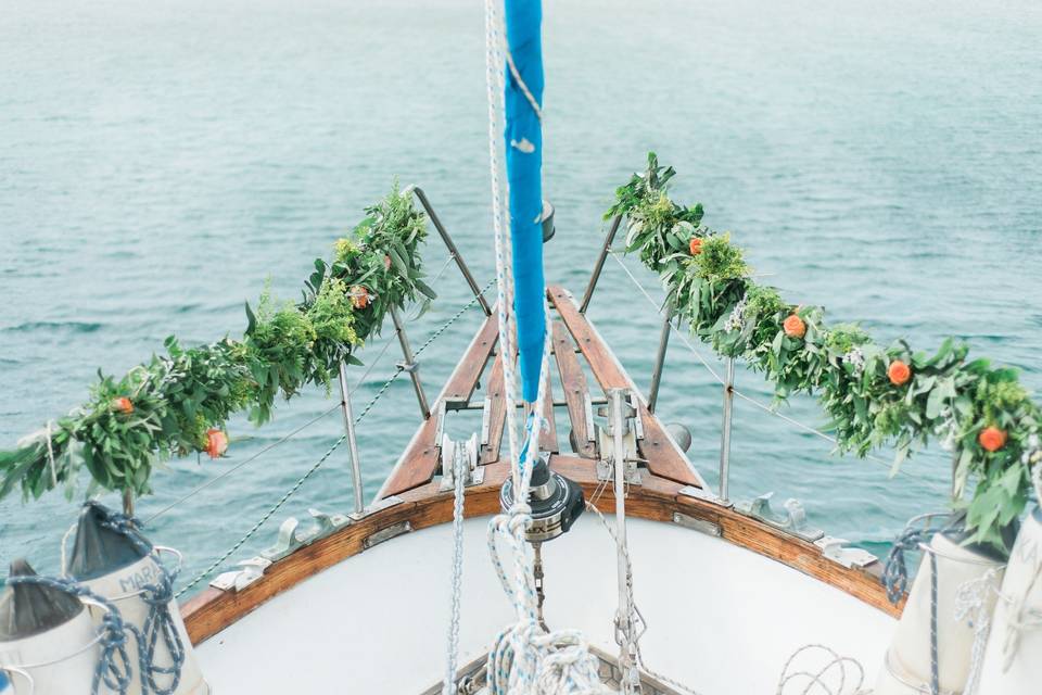
[{"label": "white fender cut off by the right edge of the photo", "polygon": [[1013,546],[977,692],[1042,692],[1042,508],[1028,517]]}]

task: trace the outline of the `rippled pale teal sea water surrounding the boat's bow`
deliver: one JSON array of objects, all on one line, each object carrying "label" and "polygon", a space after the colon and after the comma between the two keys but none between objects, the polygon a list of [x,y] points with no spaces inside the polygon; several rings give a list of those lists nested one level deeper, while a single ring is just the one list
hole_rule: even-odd
[{"label": "rippled pale teal sea water surrounding the boat's bow", "polygon": [[[734,230],[758,273],[880,341],[955,334],[1042,390],[1042,11],[1001,3],[746,0],[566,2],[545,21],[551,281],[580,293],[612,190],[653,149],[678,200]],[[414,7],[416,5],[416,7]],[[0,446],[79,403],[178,334],[241,333],[265,279],[296,296],[312,260],[397,176],[429,192],[482,282],[492,278],[483,14],[444,0],[8,0],[0,13]],[[434,273],[444,250],[432,243]],[[628,261],[646,287],[653,277]],[[468,299],[457,275],[409,324],[420,343]],[[647,384],[659,323],[609,262],[590,316]],[[423,354],[431,394],[480,324]],[[389,338],[386,333],[384,338]],[[363,355],[371,359],[382,340]],[[708,351],[707,351],[708,354]],[[360,407],[393,352],[356,394]],[[354,369],[355,378],[361,369]],[[770,400],[739,368],[739,389]],[[673,342],[660,413],[689,426],[715,483],[720,389]],[[334,403],[232,426],[219,462],[171,462],[150,517]],[[783,412],[822,425],[814,403]],[[419,418],[406,379],[360,428],[367,495]],[[478,424],[475,422],[475,427]],[[189,578],[231,546],[341,433],[333,414],[153,522]],[[465,432],[459,432],[460,434]],[[881,455],[886,456],[884,452]],[[803,501],[815,526],[875,552],[943,505],[949,462],[894,479],[737,402],[734,496]],[[338,451],[240,551],[288,515],[350,507]],[[0,502],[0,563],[55,571],[76,507]]]}]

